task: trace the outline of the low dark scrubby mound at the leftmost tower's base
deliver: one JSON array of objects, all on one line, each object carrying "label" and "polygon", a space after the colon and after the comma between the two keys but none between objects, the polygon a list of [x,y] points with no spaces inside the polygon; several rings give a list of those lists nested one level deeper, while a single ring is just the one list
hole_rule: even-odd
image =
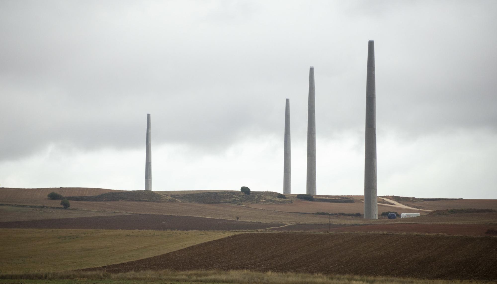
[{"label": "low dark scrubby mound at the leftmost tower's base", "polygon": [[167,195],[155,193],[150,190],[132,190],[107,192],[90,196],[67,196],[64,197],[73,201],[144,201],[144,202],[178,202]]}]

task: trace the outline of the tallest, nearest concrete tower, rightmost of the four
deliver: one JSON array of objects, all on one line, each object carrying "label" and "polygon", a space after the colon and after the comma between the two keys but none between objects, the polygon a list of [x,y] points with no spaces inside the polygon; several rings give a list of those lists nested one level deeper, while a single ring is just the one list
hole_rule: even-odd
[{"label": "tallest, nearest concrete tower, rightmost of the four", "polygon": [[376,181],[376,82],[373,40],[369,40],[368,43],[368,67],[366,75],[364,219],[378,219],[378,183]]}]

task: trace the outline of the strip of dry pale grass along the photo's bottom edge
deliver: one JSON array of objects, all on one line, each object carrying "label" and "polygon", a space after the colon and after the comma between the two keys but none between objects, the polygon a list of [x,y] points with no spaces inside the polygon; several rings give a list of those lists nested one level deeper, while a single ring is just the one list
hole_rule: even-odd
[{"label": "strip of dry pale grass along the photo's bottom edge", "polygon": [[183,271],[175,272],[144,271],[109,274],[104,272],[55,272],[6,275],[0,274],[0,283],[53,283],[53,284],[90,284],[90,283],[267,283],[267,284],[449,284],[478,283],[472,281],[417,280],[391,277],[368,277],[352,275],[322,275],[239,271]]}]

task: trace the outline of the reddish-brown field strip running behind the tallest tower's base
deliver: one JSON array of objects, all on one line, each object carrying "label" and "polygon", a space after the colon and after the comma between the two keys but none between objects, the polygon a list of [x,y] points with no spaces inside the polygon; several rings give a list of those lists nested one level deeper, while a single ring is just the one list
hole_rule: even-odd
[{"label": "reddish-brown field strip running behind the tallest tower's base", "polygon": [[[274,210],[282,212],[304,212],[304,213],[316,213],[316,212],[330,212],[331,213],[364,213],[364,203],[328,203],[328,202],[310,202],[303,200],[296,200],[292,204],[250,204],[251,208],[259,208],[265,210]],[[387,206],[383,204],[378,204],[378,213],[387,211],[397,211],[402,213],[409,211],[409,213],[420,213],[425,215],[429,212],[418,211],[418,210],[407,210],[393,206]]]}]

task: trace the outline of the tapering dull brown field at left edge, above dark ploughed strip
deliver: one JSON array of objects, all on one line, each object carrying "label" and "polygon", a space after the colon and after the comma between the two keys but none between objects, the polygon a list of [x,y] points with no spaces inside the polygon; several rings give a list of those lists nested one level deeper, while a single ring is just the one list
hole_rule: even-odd
[{"label": "tapering dull brown field at left edge, above dark ploughed strip", "polygon": [[20,206],[0,206],[0,222],[25,221],[39,219],[57,219],[73,217],[127,215],[127,213],[112,213],[87,210],[65,210],[61,208],[31,208]]}]

